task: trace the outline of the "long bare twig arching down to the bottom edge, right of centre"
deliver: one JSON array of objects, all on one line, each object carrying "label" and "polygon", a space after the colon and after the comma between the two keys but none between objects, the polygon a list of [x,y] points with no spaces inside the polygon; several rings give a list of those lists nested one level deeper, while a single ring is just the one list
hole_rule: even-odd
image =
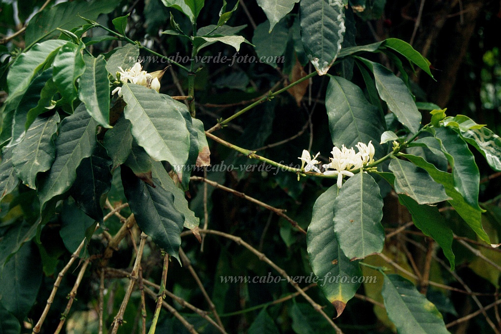
[{"label": "long bare twig arching down to the bottom edge, right of centre", "polygon": [[[334,323],[334,321],[332,321],[331,317],[328,316],[324,312],[323,307],[320,306],[319,304],[317,304],[308,294],[306,294],[306,292],[303,291],[303,289],[301,289],[301,287],[299,287],[299,284],[297,282],[295,282],[293,279],[291,279],[291,277],[287,274],[287,272],[284,269],[282,269],[281,267],[279,267],[278,265],[276,265],[265,254],[263,254],[262,252],[260,252],[256,248],[254,248],[253,246],[251,246],[248,243],[246,243],[245,241],[243,241],[242,238],[240,238],[240,237],[237,237],[237,236],[234,236],[234,235],[231,235],[231,234],[228,234],[228,233],[216,231],[216,230],[200,230],[199,232],[200,233],[215,234],[215,235],[219,235],[219,236],[225,237],[227,239],[230,239],[230,240],[234,241],[238,245],[244,246],[245,248],[247,248],[248,250],[250,250],[251,252],[253,252],[256,256],[258,256],[258,258],[261,261],[264,261],[265,263],[267,263],[268,265],[270,265],[272,268],[274,268],[275,270],[277,270],[283,277],[287,278],[287,280],[289,281],[289,283],[291,283],[291,285],[294,286],[294,288],[313,306],[313,308],[317,312],[319,312],[329,322],[329,324],[336,330],[337,334],[342,334],[343,333],[343,331],[341,330],[341,328],[339,328]],[[183,233],[181,233],[181,235],[183,235]],[[186,234],[184,234],[184,235],[186,235]]]}]

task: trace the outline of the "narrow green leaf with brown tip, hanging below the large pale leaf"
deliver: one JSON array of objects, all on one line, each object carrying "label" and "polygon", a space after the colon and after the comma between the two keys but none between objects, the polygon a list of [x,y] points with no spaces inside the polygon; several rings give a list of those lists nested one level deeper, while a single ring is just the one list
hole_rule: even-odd
[{"label": "narrow green leaf with brown tip, hanging below the large pale leaf", "polygon": [[188,201],[184,196],[184,192],[174,184],[174,181],[172,181],[169,174],[167,174],[161,162],[152,161],[151,167],[152,177],[160,181],[157,186],[160,185],[163,189],[174,195],[174,206],[184,215],[183,226],[190,230],[198,229],[200,220],[198,217],[195,217],[193,211],[188,208]]}]

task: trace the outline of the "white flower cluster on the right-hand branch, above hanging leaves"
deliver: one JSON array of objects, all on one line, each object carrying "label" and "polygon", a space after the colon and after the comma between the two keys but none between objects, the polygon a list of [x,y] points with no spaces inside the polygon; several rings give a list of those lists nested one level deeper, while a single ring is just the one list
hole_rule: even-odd
[{"label": "white flower cluster on the right-hand branch, above hanging leaves", "polygon": [[[344,176],[353,176],[353,171],[359,170],[368,164],[374,162],[374,145],[372,142],[369,142],[368,145],[359,142],[355,145],[358,149],[358,152],[355,152],[353,148],[346,148],[344,145],[339,149],[335,147],[332,149],[332,158],[329,158],[330,162],[328,164],[322,165],[324,169],[324,175],[334,175],[338,177],[338,188],[341,188],[343,185],[343,177]],[[309,172],[310,170],[314,170],[317,173],[322,173],[320,169],[316,166],[320,162],[317,159],[320,152],[317,153],[313,157],[310,156],[310,153],[307,150],[303,150],[303,155],[301,156],[301,161],[303,164],[301,165],[301,169],[304,168],[305,172]],[[306,163],[306,167],[305,167]]]}]

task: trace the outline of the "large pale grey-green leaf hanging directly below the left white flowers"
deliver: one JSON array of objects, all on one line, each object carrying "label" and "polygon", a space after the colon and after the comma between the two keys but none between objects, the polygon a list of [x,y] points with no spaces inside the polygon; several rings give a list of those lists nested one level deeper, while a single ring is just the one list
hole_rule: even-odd
[{"label": "large pale grey-green leaf hanging directly below the left white flowers", "polygon": [[124,115],[132,123],[137,143],[157,161],[184,165],[188,160],[189,132],[180,110],[186,106],[134,84],[124,84],[122,94],[127,103]]}]

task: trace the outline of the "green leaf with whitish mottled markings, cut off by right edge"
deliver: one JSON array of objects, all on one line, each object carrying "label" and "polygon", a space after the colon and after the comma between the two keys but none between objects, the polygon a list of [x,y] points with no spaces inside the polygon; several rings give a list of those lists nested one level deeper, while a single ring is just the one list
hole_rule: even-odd
[{"label": "green leaf with whitish mottled markings, cut off by right edge", "polygon": [[490,168],[501,172],[501,138],[498,135],[463,115],[447,117],[443,124],[459,132],[464,141],[485,157]]}]

